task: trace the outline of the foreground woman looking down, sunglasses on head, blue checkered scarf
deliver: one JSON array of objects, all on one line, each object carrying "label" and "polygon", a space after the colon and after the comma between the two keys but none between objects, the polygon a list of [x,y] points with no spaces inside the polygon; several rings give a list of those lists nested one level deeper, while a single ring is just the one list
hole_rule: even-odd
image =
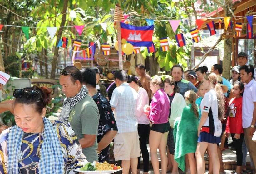
[{"label": "foreground woman looking down, sunglasses on head, blue checkered scarf", "polygon": [[0,135],[0,173],[73,174],[87,162],[71,126],[45,117],[50,94],[46,87],[14,90],[16,125]]}]

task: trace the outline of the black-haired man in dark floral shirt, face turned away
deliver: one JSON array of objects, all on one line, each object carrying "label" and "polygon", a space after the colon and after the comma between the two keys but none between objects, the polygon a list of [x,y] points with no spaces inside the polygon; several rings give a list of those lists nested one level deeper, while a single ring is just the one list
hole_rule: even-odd
[{"label": "black-haired man in dark floral shirt, face turned away", "polygon": [[98,106],[100,121],[98,128],[98,154],[99,162],[109,162],[109,147],[117,134],[116,120],[109,101],[96,89],[96,72],[91,68],[82,69],[83,84],[86,85],[89,95]]}]

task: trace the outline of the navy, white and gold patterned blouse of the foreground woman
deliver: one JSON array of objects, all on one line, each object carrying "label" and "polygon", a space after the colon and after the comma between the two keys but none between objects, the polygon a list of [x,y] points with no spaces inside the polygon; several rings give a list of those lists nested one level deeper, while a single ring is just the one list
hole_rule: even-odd
[{"label": "navy, white and gold patterned blouse of the foreground woman", "polygon": [[[53,126],[56,127],[57,135],[62,147],[64,158],[63,174],[77,173],[74,171],[80,168],[77,163],[86,161],[86,157],[82,153],[81,146],[76,138],[74,131],[69,124],[62,121],[52,121]],[[0,174],[8,173],[8,153],[7,153],[7,139],[9,129],[5,130],[0,136]],[[24,133],[20,158],[19,158],[19,173],[21,174],[38,174],[38,162],[40,160],[41,146],[44,139],[44,132],[40,133]]]}]

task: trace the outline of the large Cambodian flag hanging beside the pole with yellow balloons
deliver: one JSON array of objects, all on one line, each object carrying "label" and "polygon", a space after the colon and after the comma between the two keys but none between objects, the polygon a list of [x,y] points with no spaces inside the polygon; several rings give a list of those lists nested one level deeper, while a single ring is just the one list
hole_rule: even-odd
[{"label": "large Cambodian flag hanging beside the pole with yellow balloons", "polygon": [[121,38],[138,47],[152,46],[154,25],[136,27],[121,22]]}]

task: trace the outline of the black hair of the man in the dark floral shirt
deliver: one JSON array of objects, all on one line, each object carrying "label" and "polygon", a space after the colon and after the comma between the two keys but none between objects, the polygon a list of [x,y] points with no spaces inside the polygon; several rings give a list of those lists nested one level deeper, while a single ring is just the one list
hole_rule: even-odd
[{"label": "black hair of the man in the dark floral shirt", "polygon": [[86,85],[96,88],[96,72],[92,68],[83,68],[80,70],[82,73],[83,81]]}]

